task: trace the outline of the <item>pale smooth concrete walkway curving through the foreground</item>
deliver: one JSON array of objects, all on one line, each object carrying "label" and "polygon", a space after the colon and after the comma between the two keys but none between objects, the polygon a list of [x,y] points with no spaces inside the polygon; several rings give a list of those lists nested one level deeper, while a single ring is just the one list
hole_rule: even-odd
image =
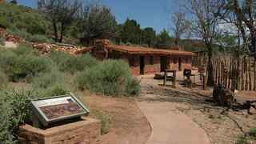
[{"label": "pale smooth concrete walkway curving through the foreground", "polygon": [[206,132],[170,102],[138,102],[152,126],[146,144],[210,144]]}]

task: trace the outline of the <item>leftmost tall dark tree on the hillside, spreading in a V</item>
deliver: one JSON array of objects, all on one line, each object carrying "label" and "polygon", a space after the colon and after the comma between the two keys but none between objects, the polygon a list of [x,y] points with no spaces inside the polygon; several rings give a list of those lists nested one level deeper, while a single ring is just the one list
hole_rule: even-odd
[{"label": "leftmost tall dark tree on the hillside, spreading in a V", "polygon": [[38,0],[38,9],[52,22],[56,42],[62,42],[67,27],[72,24],[81,6],[79,0]]}]

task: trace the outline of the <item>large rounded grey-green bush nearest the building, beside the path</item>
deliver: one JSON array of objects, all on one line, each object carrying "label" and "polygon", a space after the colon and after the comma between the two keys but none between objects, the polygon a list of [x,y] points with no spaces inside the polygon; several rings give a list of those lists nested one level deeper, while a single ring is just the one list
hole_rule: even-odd
[{"label": "large rounded grey-green bush nearest the building, beside the path", "polygon": [[78,87],[106,95],[135,95],[140,86],[126,62],[108,60],[78,74]]}]

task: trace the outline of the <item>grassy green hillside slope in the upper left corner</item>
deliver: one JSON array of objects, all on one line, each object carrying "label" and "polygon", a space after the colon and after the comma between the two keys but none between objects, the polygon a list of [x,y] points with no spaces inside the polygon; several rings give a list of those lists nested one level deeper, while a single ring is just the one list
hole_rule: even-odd
[{"label": "grassy green hillside slope in the upper left corner", "polygon": [[50,22],[38,10],[10,3],[0,4],[0,25],[14,32],[22,30],[29,34],[47,34],[50,28]]}]

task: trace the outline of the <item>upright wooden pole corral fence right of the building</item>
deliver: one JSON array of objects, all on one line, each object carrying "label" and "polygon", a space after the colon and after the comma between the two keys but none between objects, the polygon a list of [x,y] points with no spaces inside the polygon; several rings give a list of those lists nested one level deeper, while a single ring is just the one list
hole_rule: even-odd
[{"label": "upright wooden pole corral fence right of the building", "polygon": [[[193,66],[207,66],[207,58],[196,58]],[[256,90],[256,59],[216,57],[211,60],[214,83],[231,90]]]}]

